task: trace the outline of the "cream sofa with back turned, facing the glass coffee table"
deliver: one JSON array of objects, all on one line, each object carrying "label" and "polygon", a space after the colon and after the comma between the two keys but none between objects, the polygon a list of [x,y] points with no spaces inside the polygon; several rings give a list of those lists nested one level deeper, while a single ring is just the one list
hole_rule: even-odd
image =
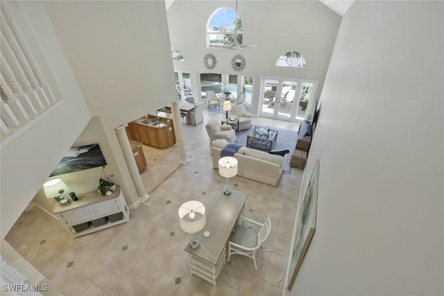
[{"label": "cream sofa with back turned, facing the glass coffee table", "polygon": [[[221,151],[228,144],[223,139],[214,140],[211,143],[211,155],[213,157],[213,168],[219,168]],[[239,162],[237,175],[257,182],[278,186],[284,164],[289,154],[283,156],[273,155],[255,149],[241,147],[234,154]]]}]

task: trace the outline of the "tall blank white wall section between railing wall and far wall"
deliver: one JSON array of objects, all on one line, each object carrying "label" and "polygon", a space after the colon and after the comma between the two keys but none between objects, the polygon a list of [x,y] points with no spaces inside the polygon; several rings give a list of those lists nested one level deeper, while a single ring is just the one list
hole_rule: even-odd
[{"label": "tall blank white wall section between railing wall and far wall", "polygon": [[129,204],[137,193],[114,128],[177,100],[164,1],[45,1]]}]

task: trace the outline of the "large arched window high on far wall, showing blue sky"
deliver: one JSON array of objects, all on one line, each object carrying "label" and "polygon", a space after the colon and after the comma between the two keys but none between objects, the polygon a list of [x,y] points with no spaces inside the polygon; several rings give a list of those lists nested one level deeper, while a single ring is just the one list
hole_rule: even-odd
[{"label": "large arched window high on far wall, showing blue sky", "polygon": [[[236,21],[237,19],[237,21]],[[231,8],[219,8],[213,12],[207,23],[207,47],[212,44],[233,44],[234,33],[242,44],[242,21]]]}]

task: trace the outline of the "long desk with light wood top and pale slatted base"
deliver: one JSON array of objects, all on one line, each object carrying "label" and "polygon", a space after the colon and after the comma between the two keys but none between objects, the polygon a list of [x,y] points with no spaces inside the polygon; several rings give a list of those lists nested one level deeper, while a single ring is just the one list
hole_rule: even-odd
[{"label": "long desk with light wood top and pale slatted base", "polygon": [[[247,194],[233,190],[230,195],[224,195],[221,189],[221,193],[214,199],[214,204],[205,209],[207,223],[198,233],[201,245],[197,250],[191,250],[189,244],[185,247],[191,257],[191,272],[209,281],[213,286],[216,286],[225,265],[225,245],[247,198]],[[205,231],[211,233],[207,238],[203,236]],[[205,252],[204,247],[211,255]]]}]

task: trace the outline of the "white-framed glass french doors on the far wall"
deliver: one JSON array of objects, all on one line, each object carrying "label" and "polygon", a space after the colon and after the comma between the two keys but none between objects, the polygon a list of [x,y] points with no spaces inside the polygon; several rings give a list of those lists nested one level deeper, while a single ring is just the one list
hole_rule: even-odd
[{"label": "white-framed glass french doors on the far wall", "polygon": [[316,103],[311,96],[316,93],[315,81],[262,78],[259,116],[296,121],[306,119],[307,111]]}]

